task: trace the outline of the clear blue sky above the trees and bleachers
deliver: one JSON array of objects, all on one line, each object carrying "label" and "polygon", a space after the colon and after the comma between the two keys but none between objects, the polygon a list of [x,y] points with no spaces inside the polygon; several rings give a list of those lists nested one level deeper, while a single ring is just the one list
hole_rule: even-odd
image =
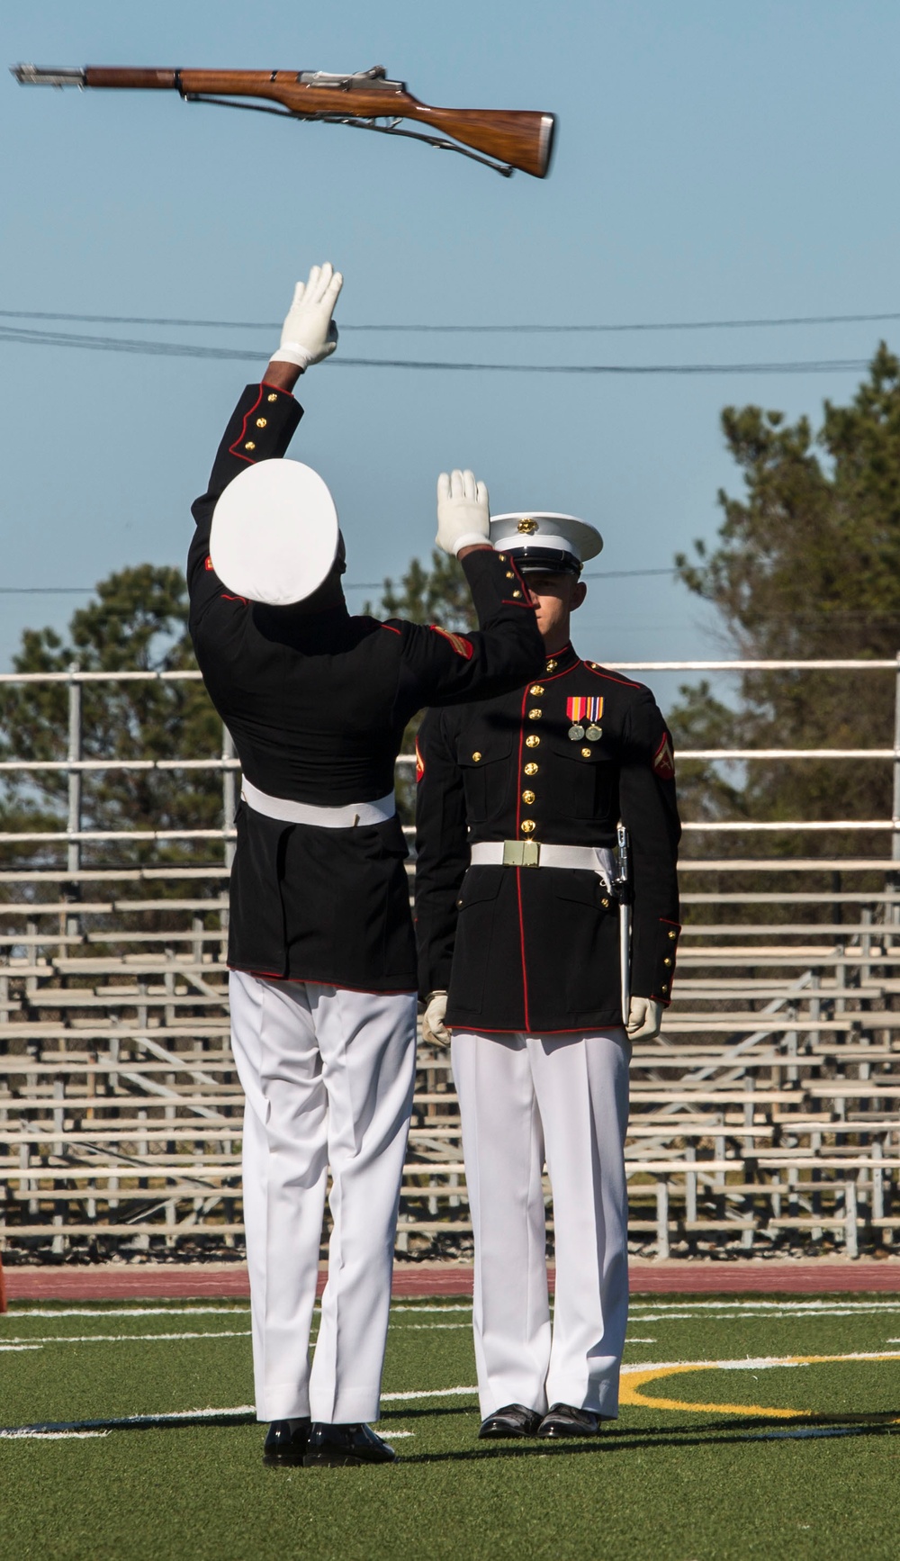
[{"label": "clear blue sky above the trees and bleachers", "polygon": [[[296,276],[345,272],[338,323],[629,323],[900,308],[900,8],[869,0],[31,0],[6,61],[353,70],[385,64],[437,105],[560,116],[544,183],[351,130],[0,80],[0,308],[279,320]],[[2,322],[0,322],[2,323]],[[61,329],[89,329],[61,326]],[[142,332],[123,328],[131,337]],[[87,585],[179,564],[225,418],[276,334],[145,332],[262,347],[243,364],[0,342],[3,579]],[[354,334],[353,356],[516,362],[867,357],[894,325],[491,337]],[[340,353],[340,350],[338,350]],[[736,473],[727,403],[817,417],[858,376],[582,378],[317,368],[292,453],[332,487],[351,582],[434,537],[441,467],[494,510],[572,510],[608,570],[666,568],[718,524]],[[359,606],[371,592],[351,593]],[[78,598],[0,596],[0,665]],[[714,654],[666,576],[594,581],[593,657]]]}]

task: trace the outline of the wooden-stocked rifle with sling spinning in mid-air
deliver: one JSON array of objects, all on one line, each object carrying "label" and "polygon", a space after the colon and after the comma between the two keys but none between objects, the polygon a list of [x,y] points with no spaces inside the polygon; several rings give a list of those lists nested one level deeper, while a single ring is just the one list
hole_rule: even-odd
[{"label": "wooden-stocked rifle with sling spinning in mid-air", "polygon": [[[446,151],[459,151],[508,176],[513,169],[543,180],[551,165],[555,119],[516,109],[431,108],[407,92],[406,81],[388,81],[384,66],[354,75],[324,70],[150,70],[122,66],[84,66],[81,70],[39,70],[11,66],[23,86],[51,87],[168,87],[187,103],[259,109],[287,119],[310,119],[326,125],[353,125],[388,136],[412,136]],[[267,103],[236,103],[232,98],[267,98]],[[401,130],[415,120],[440,134]],[[382,120],[382,123],[377,123]],[[462,142],[462,145],[457,145]],[[468,150],[474,148],[474,150]]]}]

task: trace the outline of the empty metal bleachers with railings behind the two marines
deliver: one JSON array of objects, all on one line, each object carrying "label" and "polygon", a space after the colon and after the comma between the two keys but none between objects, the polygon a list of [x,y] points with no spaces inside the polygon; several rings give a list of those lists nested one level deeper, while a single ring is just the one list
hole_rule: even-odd
[{"label": "empty metal bleachers with railings behind the two marines", "polygon": [[[897,679],[900,662],[800,665]],[[220,771],[218,829],[192,829],[189,818],[164,834],[83,829],[84,773],[125,768],[81,757],[81,685],[106,676],[156,674],[0,679],[69,688],[59,759],[0,765],[0,777],[59,770],[69,799],[66,827],[0,834],[0,1250],[56,1261],[223,1255],[243,1241],[243,1102],[225,965],[237,765],[228,734],[215,759],[140,760]],[[686,826],[675,1002],[632,1065],[630,1232],[641,1250],[836,1246],[853,1257],[889,1247],[900,1229],[900,732],[892,737],[894,746],[833,752],[894,766],[891,820]],[[820,756],[679,757],[800,765]],[[797,854],[711,854],[719,834],[738,830],[749,851],[767,830],[788,834]],[[810,854],[803,843],[822,830],[849,841],[847,854]],[[870,835],[880,854],[853,854]],[[193,843],[189,865],[156,849],[173,838]],[[733,888],[736,876],[758,888]],[[469,1238],[449,1058],[423,1044],[398,1246],[459,1252]]]}]

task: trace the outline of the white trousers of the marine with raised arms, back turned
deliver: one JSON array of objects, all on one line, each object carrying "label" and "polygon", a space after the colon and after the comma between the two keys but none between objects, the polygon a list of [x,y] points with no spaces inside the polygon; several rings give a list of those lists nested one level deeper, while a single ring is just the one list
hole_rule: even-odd
[{"label": "white trousers of the marine with raised arms, back turned", "polygon": [[[415,1079],[413,994],[232,971],[260,1421],[374,1421]],[[309,1364],[324,1193],[332,1233]]]}]

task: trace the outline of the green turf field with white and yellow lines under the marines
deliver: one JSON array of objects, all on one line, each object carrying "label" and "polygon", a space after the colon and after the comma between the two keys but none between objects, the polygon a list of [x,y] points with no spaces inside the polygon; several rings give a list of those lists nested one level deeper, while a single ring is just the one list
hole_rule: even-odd
[{"label": "green turf field with white and yellow lines under the marines", "polygon": [[[398,1305],[379,1430],[402,1463],[279,1470],[246,1411],[245,1305],[17,1305],[0,1317],[0,1553],[900,1555],[900,1299],[644,1299],[625,1361],[597,1439],[479,1444],[468,1307]],[[217,1410],[231,1421],[207,1424]]]}]

